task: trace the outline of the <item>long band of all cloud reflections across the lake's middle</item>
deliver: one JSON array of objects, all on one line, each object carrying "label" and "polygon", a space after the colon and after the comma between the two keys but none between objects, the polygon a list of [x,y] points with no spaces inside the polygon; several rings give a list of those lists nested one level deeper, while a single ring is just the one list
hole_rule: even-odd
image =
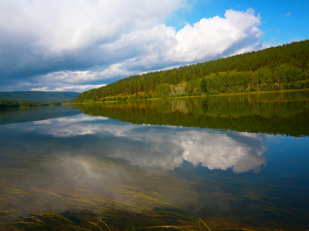
[{"label": "long band of all cloud reflections across the lake's middle", "polygon": [[[120,124],[106,117],[84,114],[30,122],[18,129],[59,138],[91,135],[89,139],[83,138],[85,147],[77,147],[89,145],[95,156],[119,158],[148,168],[174,169],[186,160],[195,166],[232,168],[233,172],[240,173],[258,172],[260,165],[266,163],[265,134]],[[101,141],[96,143],[97,140]],[[69,144],[74,142],[71,140]],[[71,151],[78,152],[74,149]]]}]

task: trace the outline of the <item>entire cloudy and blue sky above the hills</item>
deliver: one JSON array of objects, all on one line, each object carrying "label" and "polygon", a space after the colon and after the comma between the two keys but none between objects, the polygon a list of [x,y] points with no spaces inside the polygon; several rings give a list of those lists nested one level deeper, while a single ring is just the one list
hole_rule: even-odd
[{"label": "entire cloudy and blue sky above the hills", "polygon": [[0,0],[0,91],[73,91],[309,39],[309,1]]}]

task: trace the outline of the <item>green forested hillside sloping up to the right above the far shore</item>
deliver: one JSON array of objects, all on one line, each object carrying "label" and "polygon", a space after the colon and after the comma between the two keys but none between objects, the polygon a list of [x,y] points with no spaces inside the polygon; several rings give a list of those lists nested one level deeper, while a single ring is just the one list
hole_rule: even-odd
[{"label": "green forested hillside sloping up to the right above the far shore", "polygon": [[[309,40],[133,75],[81,93],[74,103],[309,87]],[[122,97],[120,97],[122,96]]]}]

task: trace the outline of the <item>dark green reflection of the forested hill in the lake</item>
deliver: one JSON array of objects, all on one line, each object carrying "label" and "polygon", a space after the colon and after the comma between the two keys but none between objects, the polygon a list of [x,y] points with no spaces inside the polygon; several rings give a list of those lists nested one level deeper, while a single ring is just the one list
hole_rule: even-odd
[{"label": "dark green reflection of the forested hill in the lake", "polygon": [[308,136],[309,91],[77,104],[83,113],[134,124]]}]

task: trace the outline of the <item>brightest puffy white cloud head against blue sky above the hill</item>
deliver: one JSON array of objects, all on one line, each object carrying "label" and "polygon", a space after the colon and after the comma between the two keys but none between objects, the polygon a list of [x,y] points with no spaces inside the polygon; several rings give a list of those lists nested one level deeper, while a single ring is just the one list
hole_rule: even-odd
[{"label": "brightest puffy white cloud head against blue sky above the hill", "polygon": [[[177,44],[170,52],[171,59],[193,62],[214,58],[241,41],[242,49],[250,46],[246,51],[255,50],[262,35],[257,26],[260,26],[260,17],[256,17],[252,9],[247,12],[226,10],[225,18],[202,18],[193,26],[188,24],[177,32]],[[248,37],[250,42],[244,42]]]}]

